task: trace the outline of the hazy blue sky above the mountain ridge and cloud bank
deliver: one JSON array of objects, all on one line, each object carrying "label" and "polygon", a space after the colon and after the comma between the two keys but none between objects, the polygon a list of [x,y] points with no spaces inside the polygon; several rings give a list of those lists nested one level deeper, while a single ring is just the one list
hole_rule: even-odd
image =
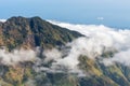
[{"label": "hazy blue sky above the mountain ridge and cloud bank", "polygon": [[0,18],[11,16],[130,27],[130,0],[0,0]]}]

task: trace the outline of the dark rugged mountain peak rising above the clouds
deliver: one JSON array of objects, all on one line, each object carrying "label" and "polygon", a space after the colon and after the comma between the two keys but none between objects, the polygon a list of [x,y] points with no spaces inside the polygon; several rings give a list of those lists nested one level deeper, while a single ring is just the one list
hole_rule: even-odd
[{"label": "dark rugged mountain peak rising above the clouds", "polygon": [[82,34],[52,25],[40,17],[18,16],[0,23],[0,46],[6,46],[10,49],[20,46],[51,48],[64,45],[78,37]]}]

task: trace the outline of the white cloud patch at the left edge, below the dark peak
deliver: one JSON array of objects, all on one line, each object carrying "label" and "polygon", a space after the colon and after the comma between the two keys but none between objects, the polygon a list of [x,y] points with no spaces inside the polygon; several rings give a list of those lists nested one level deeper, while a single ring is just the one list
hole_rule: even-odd
[{"label": "white cloud patch at the left edge, below the dark peak", "polygon": [[5,49],[0,49],[0,63],[3,64],[17,64],[24,61],[36,60],[37,54],[32,49],[14,49],[13,52],[8,52]]}]

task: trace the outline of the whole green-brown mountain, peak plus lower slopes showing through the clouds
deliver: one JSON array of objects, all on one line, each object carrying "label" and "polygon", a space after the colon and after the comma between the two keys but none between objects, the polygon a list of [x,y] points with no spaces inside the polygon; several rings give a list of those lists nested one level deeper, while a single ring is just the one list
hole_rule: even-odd
[{"label": "whole green-brown mountain, peak plus lower slopes showing through the clouds", "polygon": [[[8,52],[0,49],[0,85],[1,86],[130,86],[130,68],[120,63],[113,66],[104,66],[100,59],[90,59],[86,55],[79,56],[79,70],[81,75],[72,73],[68,69],[61,67],[62,71],[51,70],[55,66],[55,60],[44,62],[46,56],[37,57],[37,61],[27,60],[20,61],[16,64],[5,64],[1,58],[11,57],[8,61],[13,61],[13,56],[18,59],[18,55],[24,55],[26,52],[17,54],[17,51],[12,54],[13,49],[25,48],[34,49],[40,47],[42,51],[61,47],[58,51],[69,53],[69,46],[66,43],[74,41],[82,34],[52,25],[40,17],[25,18],[22,16],[11,17],[5,23],[0,23],[0,46],[4,46]],[[88,38],[89,39],[89,38]],[[63,48],[63,49],[62,49]],[[65,51],[64,51],[65,48]],[[67,49],[67,51],[66,51]],[[77,49],[79,51],[79,49]],[[50,51],[51,52],[51,51]],[[28,52],[27,52],[28,53]],[[48,53],[48,52],[46,52]],[[54,53],[58,53],[57,51]],[[104,52],[101,56],[109,58],[115,54],[114,51]],[[50,54],[51,55],[51,54]],[[51,56],[54,56],[52,54]],[[58,54],[60,55],[60,54]],[[56,55],[58,57],[58,55]],[[28,58],[31,57],[27,55]],[[56,57],[55,57],[56,58]],[[74,57],[75,58],[75,57]],[[27,59],[27,58],[26,58]],[[47,58],[48,59],[48,58]],[[52,58],[51,58],[52,59]],[[56,58],[58,59],[58,58]],[[74,60],[69,59],[73,63]],[[66,61],[66,63],[68,63]],[[46,68],[44,68],[46,67]],[[52,68],[50,68],[52,67]],[[41,70],[41,71],[39,71]],[[56,72],[55,72],[56,71]],[[83,73],[83,74],[82,74]]]}]

